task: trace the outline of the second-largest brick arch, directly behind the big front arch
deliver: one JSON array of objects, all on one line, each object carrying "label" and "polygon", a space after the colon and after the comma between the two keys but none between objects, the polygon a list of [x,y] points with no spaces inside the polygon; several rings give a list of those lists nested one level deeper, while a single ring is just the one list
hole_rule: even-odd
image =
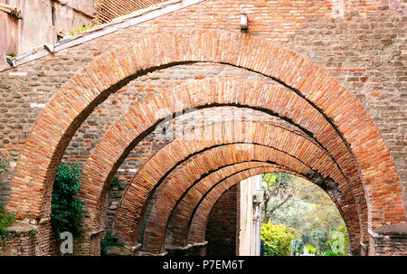
[{"label": "second-largest brick arch, directly behind the big front arch", "polygon": [[[249,95],[256,94],[261,100],[251,96],[241,96],[245,92]],[[207,100],[203,100],[204,96],[207,96]],[[147,120],[141,115],[157,111],[158,108],[155,106],[160,102],[166,102],[167,111],[161,114],[159,118],[164,118],[166,114],[174,114],[176,110],[181,110],[175,109],[176,106],[170,103],[176,98],[182,100],[184,110],[192,107],[196,109],[209,108],[213,107],[213,102],[216,102],[216,106],[258,109],[270,115],[284,118],[301,128],[308,136],[313,137],[319,146],[327,147],[326,149],[334,154],[332,157],[345,168],[343,172],[349,183],[355,188],[356,199],[358,200],[357,206],[359,206],[359,203],[361,204],[359,210],[362,211],[361,214],[364,216],[362,222],[367,222],[365,221],[367,212],[365,212],[366,203],[364,201],[363,187],[355,171],[355,165],[352,165],[352,160],[349,159],[351,156],[345,153],[345,145],[340,142],[335,131],[316,109],[310,107],[307,101],[299,98],[296,93],[280,89],[275,85],[250,80],[216,79],[197,80],[180,85],[174,90],[157,94],[148,103],[130,109],[126,115],[118,118],[116,125],[109,128],[109,131],[93,151],[83,171],[83,198],[90,207],[93,206],[93,219],[90,221],[90,225],[93,225],[95,230],[99,230],[99,224],[102,223],[99,221],[101,218],[100,204],[103,204],[107,191],[107,184],[105,183],[109,182],[109,178],[115,174],[118,166],[129,151],[136,146],[139,137],[143,137],[143,135],[140,135],[140,130],[135,128],[142,128],[140,125],[144,126],[144,124],[147,124],[147,126],[144,126],[145,128],[151,125],[151,129],[147,133],[151,132],[152,128],[155,128],[156,124],[151,121],[154,118],[148,118]],[[151,102],[153,104],[150,104]],[[287,102],[290,102],[290,104],[287,105]],[[284,106],[284,108],[280,106]],[[106,158],[106,155],[109,155],[109,158]],[[173,157],[176,158],[177,156],[179,155]],[[157,175],[156,171],[151,174]]]}]

